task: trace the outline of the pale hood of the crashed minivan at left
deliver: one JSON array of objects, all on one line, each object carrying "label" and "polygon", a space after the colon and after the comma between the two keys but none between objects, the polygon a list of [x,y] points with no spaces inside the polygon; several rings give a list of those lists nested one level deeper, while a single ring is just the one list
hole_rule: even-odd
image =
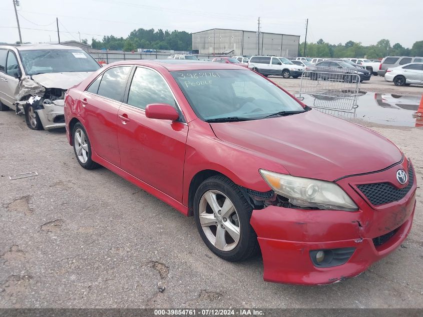
[{"label": "pale hood of the crashed minivan at left", "polygon": [[60,88],[67,90],[82,82],[93,72],[47,73],[33,75],[32,79],[45,88]]}]

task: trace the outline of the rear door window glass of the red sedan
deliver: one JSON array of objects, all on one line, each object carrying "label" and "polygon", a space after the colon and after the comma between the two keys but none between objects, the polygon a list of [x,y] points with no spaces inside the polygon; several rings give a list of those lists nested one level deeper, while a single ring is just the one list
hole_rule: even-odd
[{"label": "rear door window glass of the red sedan", "polygon": [[98,94],[116,101],[122,101],[131,66],[114,67],[103,74]]}]

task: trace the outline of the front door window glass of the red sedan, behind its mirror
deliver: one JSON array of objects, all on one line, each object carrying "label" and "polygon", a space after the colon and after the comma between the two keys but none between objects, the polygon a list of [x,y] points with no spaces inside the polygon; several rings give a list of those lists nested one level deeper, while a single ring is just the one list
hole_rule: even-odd
[{"label": "front door window glass of the red sedan, behind its mirror", "polygon": [[163,78],[147,68],[138,67],[135,71],[128,94],[128,105],[145,109],[149,104],[175,106],[175,99]]}]

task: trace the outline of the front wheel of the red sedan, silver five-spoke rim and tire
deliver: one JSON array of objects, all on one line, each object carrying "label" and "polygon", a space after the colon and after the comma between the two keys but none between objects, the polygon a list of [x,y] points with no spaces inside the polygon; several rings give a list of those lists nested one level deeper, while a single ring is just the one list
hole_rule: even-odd
[{"label": "front wheel of the red sedan, silver five-spoke rim and tire", "polygon": [[201,238],[217,256],[242,261],[258,250],[257,235],[250,225],[253,208],[228,178],[206,179],[194,197],[194,218]]}]

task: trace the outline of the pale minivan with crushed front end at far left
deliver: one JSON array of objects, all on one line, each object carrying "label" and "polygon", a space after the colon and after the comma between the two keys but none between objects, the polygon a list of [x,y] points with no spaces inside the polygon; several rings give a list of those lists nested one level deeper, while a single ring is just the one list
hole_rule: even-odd
[{"label": "pale minivan with crushed front end at far left", "polygon": [[101,66],[80,48],[0,45],[0,111],[24,114],[33,130],[65,126],[65,92]]}]

